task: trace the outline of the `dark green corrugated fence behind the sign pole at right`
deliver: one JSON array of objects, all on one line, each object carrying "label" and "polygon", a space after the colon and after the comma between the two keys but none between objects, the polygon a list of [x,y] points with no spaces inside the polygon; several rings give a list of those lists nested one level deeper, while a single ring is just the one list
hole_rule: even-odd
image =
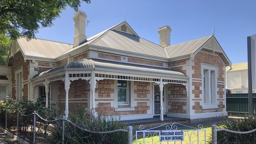
[{"label": "dark green corrugated fence behind the sign pole at right", "polygon": [[[230,113],[248,113],[248,94],[226,94],[226,111]],[[254,113],[256,111],[256,94],[253,94]]]}]

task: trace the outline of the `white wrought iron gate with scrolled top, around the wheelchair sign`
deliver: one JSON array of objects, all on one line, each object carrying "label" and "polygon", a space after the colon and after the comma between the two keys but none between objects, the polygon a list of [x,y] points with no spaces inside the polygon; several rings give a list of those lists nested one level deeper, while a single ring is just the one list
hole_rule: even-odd
[{"label": "white wrought iron gate with scrolled top, around the wheelchair sign", "polygon": [[[178,130],[178,126],[182,126],[183,130]],[[202,125],[198,125],[198,128],[195,128],[179,123],[165,123],[150,129],[144,128],[144,125],[140,125],[140,130],[135,131],[136,144],[206,144],[206,129],[203,129]],[[159,137],[161,131],[183,131],[184,139],[163,142]]]}]

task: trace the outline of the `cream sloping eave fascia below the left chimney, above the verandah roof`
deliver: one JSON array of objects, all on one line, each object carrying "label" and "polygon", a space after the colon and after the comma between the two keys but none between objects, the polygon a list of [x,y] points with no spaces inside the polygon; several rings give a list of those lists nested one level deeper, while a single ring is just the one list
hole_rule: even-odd
[{"label": "cream sloping eave fascia below the left chimney, above the verandah roof", "polygon": [[62,60],[65,60],[67,59],[69,56],[72,57],[74,55],[78,55],[78,54],[81,54],[83,52],[86,52],[88,51],[89,48],[88,48],[88,44],[85,44],[79,48],[76,48],[75,50],[72,50],[70,51],[69,53],[67,54],[63,54],[63,55],[60,55],[59,57],[56,57],[55,58],[55,61],[58,62],[58,61],[62,61]]}]

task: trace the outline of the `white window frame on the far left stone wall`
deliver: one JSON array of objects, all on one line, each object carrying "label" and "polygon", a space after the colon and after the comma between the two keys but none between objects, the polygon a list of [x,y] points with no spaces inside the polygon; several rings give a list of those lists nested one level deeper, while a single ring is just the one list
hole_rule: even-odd
[{"label": "white window frame on the far left stone wall", "polygon": [[[18,76],[19,75],[19,76]],[[22,67],[15,70],[15,89],[16,89],[16,100],[20,100],[23,95],[23,78],[22,78]],[[18,89],[19,88],[19,89]]]}]

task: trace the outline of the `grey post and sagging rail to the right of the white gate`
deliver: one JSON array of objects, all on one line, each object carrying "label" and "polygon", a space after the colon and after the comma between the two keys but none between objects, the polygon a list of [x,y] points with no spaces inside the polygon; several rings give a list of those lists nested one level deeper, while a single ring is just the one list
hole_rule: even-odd
[{"label": "grey post and sagging rail to the right of the white gate", "polygon": [[211,139],[212,139],[212,144],[217,144],[217,132],[218,131],[227,131],[230,133],[236,133],[236,134],[248,134],[248,133],[253,133],[256,131],[256,129],[252,129],[250,131],[232,131],[230,129],[225,129],[225,128],[221,128],[221,129],[217,129],[217,125],[213,124],[211,126]]}]

